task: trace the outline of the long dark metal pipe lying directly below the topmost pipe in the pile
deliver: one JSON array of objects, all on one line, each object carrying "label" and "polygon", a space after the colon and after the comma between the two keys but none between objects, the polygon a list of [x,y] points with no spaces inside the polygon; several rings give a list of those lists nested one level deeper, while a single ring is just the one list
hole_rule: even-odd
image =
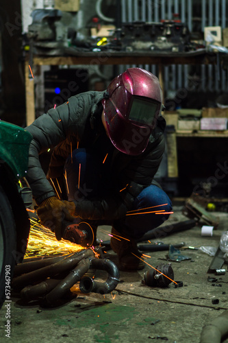
[{"label": "long dark metal pipe lying directly below the topmost pipe in the pile", "polygon": [[60,274],[66,270],[70,270],[74,268],[81,259],[85,259],[87,257],[94,256],[94,252],[91,249],[84,249],[75,254],[71,255],[70,257],[66,257],[57,263],[53,263],[51,265],[47,265],[44,268],[40,268],[38,270],[34,270],[27,274],[23,274],[21,276],[17,276],[15,279],[12,280],[12,288],[21,289],[25,287],[25,285],[32,284],[37,281],[42,281],[47,279],[49,276],[54,276],[55,274]]}]

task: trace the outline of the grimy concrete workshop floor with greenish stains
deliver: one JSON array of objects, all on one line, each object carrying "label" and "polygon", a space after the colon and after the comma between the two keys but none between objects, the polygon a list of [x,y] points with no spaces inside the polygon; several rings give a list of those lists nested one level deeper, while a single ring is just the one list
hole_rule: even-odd
[{"label": "grimy concrete workshop floor with greenish stains", "polygon": [[[186,242],[186,246],[218,247],[220,235],[227,230],[228,213],[214,213],[220,224],[212,237],[202,237],[201,228],[194,228],[162,238],[166,244]],[[186,220],[180,207],[175,206],[168,222]],[[167,224],[167,222],[166,222]],[[110,229],[106,227],[105,229]],[[106,236],[106,237],[105,237]],[[107,239],[99,232],[98,237]],[[161,239],[160,239],[161,240]],[[151,242],[154,240],[151,240]],[[112,250],[110,259],[117,263]],[[191,260],[172,262],[174,280],[183,281],[183,287],[149,287],[142,284],[144,272],[121,272],[121,282],[112,294],[75,294],[64,305],[54,309],[40,307],[37,302],[21,304],[17,294],[12,293],[11,342],[199,342],[205,322],[213,320],[228,309],[227,272],[216,276],[218,281],[207,281],[207,269],[212,257],[201,250],[181,250]],[[164,261],[167,252],[145,252],[151,256],[147,262],[153,265]],[[227,270],[227,265],[223,268]],[[104,272],[103,272],[104,273]],[[106,274],[97,273],[98,279],[106,280]],[[219,303],[212,304],[213,299]],[[1,309],[0,342],[5,338],[5,307]],[[228,342],[228,337],[223,340]]]}]

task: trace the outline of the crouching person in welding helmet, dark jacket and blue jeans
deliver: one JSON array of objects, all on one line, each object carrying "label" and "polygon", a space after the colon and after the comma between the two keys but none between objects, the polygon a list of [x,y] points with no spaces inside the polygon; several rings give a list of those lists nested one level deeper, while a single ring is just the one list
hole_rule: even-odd
[{"label": "crouching person in welding helmet, dark jacket and blue jeans", "polygon": [[[153,180],[165,147],[162,109],[157,77],[129,68],[105,91],[74,95],[26,128],[33,135],[27,180],[41,224],[58,240],[64,221],[88,222],[94,233],[110,225],[119,268],[144,268],[136,239],[172,210]],[[39,155],[49,149],[45,175]]]}]

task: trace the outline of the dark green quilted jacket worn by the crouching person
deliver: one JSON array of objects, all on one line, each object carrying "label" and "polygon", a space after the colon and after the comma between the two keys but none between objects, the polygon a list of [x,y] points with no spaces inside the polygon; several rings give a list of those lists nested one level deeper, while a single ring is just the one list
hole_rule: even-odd
[{"label": "dark green quilted jacket worn by the crouching person", "polygon": [[[49,180],[42,170],[39,154],[54,148],[49,167],[49,178],[61,176],[64,163],[71,149],[90,147],[103,132],[101,122],[104,92],[90,91],[75,95],[68,102],[51,108],[26,128],[33,135],[29,148],[27,180],[34,199],[40,204],[46,198],[55,196]],[[164,152],[163,117],[157,120],[147,149],[139,156],[129,156],[114,149],[114,187],[108,196],[93,200],[79,200],[76,214],[88,220],[114,220],[121,218],[131,209],[134,198],[145,187],[151,185],[153,176]],[[126,187],[126,188],[125,188]],[[123,191],[121,191],[124,189]]]}]

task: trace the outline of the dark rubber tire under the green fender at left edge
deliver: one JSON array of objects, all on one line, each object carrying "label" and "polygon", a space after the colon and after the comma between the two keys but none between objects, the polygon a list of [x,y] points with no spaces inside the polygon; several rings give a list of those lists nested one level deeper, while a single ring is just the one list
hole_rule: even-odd
[{"label": "dark rubber tire under the green fender at left edge", "polygon": [[12,280],[16,251],[16,226],[8,197],[0,185],[0,309],[5,300],[5,265],[10,265]]}]

